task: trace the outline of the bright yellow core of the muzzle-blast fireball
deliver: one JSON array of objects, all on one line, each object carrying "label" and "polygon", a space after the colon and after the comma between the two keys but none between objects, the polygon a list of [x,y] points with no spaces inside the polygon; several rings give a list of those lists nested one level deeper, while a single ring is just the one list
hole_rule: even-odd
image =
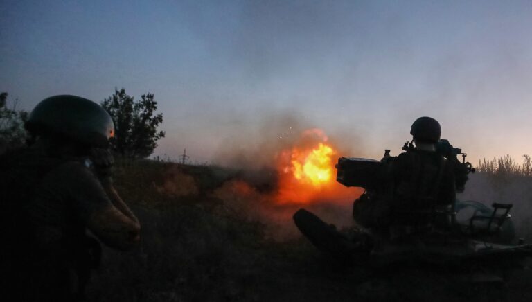
[{"label": "bright yellow core of the muzzle-blast fireball", "polygon": [[332,148],[319,143],[317,149],[292,152],[292,167],[294,177],[302,182],[310,182],[313,186],[328,182],[332,178]]}]

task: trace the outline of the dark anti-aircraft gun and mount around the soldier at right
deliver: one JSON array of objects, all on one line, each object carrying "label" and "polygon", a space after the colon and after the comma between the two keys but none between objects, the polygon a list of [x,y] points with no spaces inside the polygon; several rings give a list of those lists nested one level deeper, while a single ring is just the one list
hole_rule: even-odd
[{"label": "dark anti-aircraft gun and mount around the soldier at right", "polygon": [[[414,146],[407,142],[403,150]],[[467,154],[441,140],[436,152],[452,163],[456,191],[462,192],[468,174],[475,172],[465,161]],[[461,156],[461,160],[458,157]],[[337,181],[344,186],[362,187],[368,191],[382,189],[386,179],[390,151],[385,150],[381,161],[354,157],[341,157],[336,165]],[[449,208],[434,208],[434,219],[445,217],[445,227],[433,224],[427,236],[411,242],[393,242],[370,231],[346,233],[337,231],[316,215],[301,209],[294,214],[294,222],[301,233],[325,254],[335,258],[349,258],[365,267],[382,267],[396,263],[425,263],[430,265],[455,265],[459,269],[490,265],[518,265],[524,257],[532,256],[532,245],[523,240],[515,242],[515,231],[509,212],[512,204],[492,204],[489,208],[480,202],[460,202]],[[409,210],[417,212],[416,209]],[[423,209],[427,211],[427,209]],[[472,215],[456,220],[457,214],[472,211]],[[418,214],[418,213],[415,213]],[[391,213],[391,215],[395,215]],[[463,216],[463,215],[462,215]],[[363,229],[363,228],[362,228]]]}]

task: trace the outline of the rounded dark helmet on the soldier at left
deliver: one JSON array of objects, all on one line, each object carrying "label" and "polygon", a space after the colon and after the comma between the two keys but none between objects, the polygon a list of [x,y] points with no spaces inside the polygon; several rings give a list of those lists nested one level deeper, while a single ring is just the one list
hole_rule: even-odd
[{"label": "rounded dark helmet on the soldier at left", "polygon": [[45,98],[35,106],[24,126],[32,134],[66,136],[95,147],[106,147],[114,136],[113,120],[107,111],[79,96]]}]

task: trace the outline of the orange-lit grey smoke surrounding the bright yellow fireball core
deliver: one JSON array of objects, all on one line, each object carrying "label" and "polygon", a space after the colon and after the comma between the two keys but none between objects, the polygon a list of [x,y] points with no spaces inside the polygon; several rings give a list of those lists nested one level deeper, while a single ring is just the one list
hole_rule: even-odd
[{"label": "orange-lit grey smoke surrounding the bright yellow fireball core", "polygon": [[[238,215],[264,223],[268,236],[276,240],[299,236],[292,215],[301,207],[337,227],[353,224],[351,205],[360,195],[360,188],[344,188],[334,183],[332,191],[311,193],[308,202],[301,204],[289,202],[283,193],[292,190],[288,183],[294,181],[289,167],[292,148],[315,148],[318,143],[327,143],[335,150],[332,157],[335,162],[338,157],[360,154],[362,144],[357,134],[322,130],[304,116],[287,111],[263,114],[255,124],[240,129],[219,146],[215,162],[237,169],[238,177],[215,190],[213,195],[224,200]],[[335,177],[335,171],[333,174]],[[305,194],[308,192],[301,188],[292,192],[292,195]]]}]

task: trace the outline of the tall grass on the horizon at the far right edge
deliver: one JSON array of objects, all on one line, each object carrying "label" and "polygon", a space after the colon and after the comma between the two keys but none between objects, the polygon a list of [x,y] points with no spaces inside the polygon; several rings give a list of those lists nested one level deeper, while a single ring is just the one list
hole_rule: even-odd
[{"label": "tall grass on the horizon at the far right edge", "polygon": [[477,172],[488,175],[508,175],[516,177],[532,177],[532,159],[529,155],[523,155],[523,162],[517,163],[510,155],[496,159],[479,160]]}]

